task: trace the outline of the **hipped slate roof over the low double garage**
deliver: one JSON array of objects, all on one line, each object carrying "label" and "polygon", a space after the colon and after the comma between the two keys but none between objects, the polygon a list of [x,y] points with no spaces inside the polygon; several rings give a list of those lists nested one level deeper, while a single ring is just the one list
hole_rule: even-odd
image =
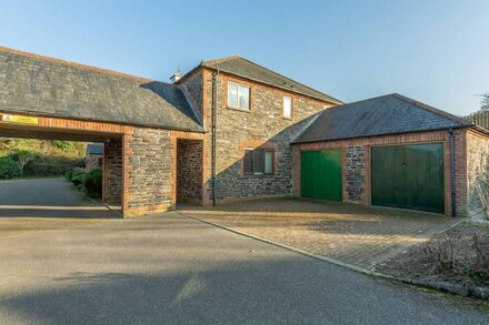
[{"label": "hipped slate roof over the low double garage", "polygon": [[392,93],[326,109],[293,143],[469,126],[470,121]]}]

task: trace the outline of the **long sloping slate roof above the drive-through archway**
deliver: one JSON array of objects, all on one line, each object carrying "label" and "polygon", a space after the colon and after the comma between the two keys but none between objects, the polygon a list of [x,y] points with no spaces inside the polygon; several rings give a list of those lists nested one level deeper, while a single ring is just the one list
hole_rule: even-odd
[{"label": "long sloping slate roof above the drive-through archway", "polygon": [[7,48],[0,111],[202,131],[179,85]]}]

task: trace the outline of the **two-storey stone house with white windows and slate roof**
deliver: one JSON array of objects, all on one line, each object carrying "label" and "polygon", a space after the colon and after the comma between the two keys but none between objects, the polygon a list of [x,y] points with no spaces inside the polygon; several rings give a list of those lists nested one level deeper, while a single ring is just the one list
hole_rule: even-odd
[{"label": "two-storey stone house with white windows and slate roof", "polygon": [[240,57],[204,61],[176,84],[188,91],[208,131],[204,204],[291,194],[290,142],[311,116],[341,103]]}]

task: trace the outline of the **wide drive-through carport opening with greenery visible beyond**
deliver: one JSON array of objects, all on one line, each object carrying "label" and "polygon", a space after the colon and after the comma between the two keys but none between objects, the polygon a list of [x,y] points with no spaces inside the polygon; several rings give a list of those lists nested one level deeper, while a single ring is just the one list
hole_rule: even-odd
[{"label": "wide drive-through carport opening with greenery visible beyond", "polygon": [[0,217],[122,216],[120,134],[0,123]]}]

